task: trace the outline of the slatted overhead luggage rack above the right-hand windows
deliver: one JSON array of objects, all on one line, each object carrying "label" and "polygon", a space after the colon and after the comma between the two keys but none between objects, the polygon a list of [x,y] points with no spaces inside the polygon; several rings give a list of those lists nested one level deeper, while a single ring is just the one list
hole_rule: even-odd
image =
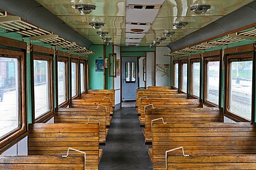
[{"label": "slatted overhead luggage rack above the right-hand windows", "polygon": [[230,43],[235,43],[235,42],[241,42],[243,40],[256,40],[256,28],[253,27],[252,30],[246,30],[246,31],[239,31],[233,34],[229,34],[225,37],[218,38],[217,40],[212,40],[210,42],[204,42],[199,45],[195,45],[193,47],[186,47],[182,50],[178,50],[175,52],[171,52],[167,54],[166,56],[169,57],[176,57],[180,55],[185,55],[185,54],[190,54],[192,52],[198,52],[198,51],[203,51],[208,48],[213,48],[213,47],[222,47],[225,45],[229,45]]}]

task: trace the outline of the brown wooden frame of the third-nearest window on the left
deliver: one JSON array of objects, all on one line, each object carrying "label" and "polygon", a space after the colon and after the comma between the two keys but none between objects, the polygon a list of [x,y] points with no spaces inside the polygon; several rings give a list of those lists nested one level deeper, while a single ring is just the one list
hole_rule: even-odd
[{"label": "brown wooden frame of the third-nearest window on the left", "polygon": [[[59,103],[59,86],[58,86],[58,83],[59,83],[59,72],[58,72],[58,66],[56,67],[56,72],[57,72],[57,80],[56,80],[56,89],[57,89],[57,103],[58,103],[58,107],[59,108],[64,108],[66,106],[68,106],[68,103],[69,103],[69,97],[68,97],[68,94],[69,94],[69,87],[68,87],[68,78],[69,78],[69,74],[68,74],[68,58],[66,57],[59,57],[58,56],[58,62],[64,62],[66,64],[66,68],[65,68],[65,71],[66,71],[66,101],[64,101],[63,103]],[[58,65],[58,62],[57,62],[57,65]]]}]

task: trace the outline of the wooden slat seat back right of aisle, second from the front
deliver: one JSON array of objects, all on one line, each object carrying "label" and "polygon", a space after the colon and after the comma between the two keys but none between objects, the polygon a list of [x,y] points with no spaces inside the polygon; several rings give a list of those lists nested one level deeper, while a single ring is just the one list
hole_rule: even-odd
[{"label": "wooden slat seat back right of aisle, second from the front", "polygon": [[[165,169],[166,150],[185,154],[256,154],[256,126],[251,123],[154,123],[154,169]],[[174,150],[169,154],[180,154]]]}]

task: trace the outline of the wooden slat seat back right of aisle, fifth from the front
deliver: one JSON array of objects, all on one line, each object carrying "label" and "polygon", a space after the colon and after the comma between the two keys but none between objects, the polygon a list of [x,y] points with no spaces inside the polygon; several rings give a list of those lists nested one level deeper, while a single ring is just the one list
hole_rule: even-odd
[{"label": "wooden slat seat back right of aisle, fifth from the front", "polygon": [[175,93],[175,94],[169,94],[169,93],[148,93],[148,94],[143,94],[140,96],[140,98],[138,98],[138,100],[136,101],[136,105],[138,108],[138,114],[140,114],[140,105],[142,102],[142,99],[145,98],[181,98],[181,99],[188,99],[188,96],[186,94],[182,94],[182,93]]}]

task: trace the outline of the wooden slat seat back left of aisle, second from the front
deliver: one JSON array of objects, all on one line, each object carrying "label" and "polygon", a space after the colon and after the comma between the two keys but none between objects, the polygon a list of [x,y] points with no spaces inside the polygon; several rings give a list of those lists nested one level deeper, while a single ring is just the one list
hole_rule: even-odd
[{"label": "wooden slat seat back left of aisle, second from the front", "polygon": [[[68,147],[86,152],[88,169],[98,169],[99,123],[34,123],[28,126],[28,155],[64,156]],[[83,154],[70,151],[70,156]]]}]

